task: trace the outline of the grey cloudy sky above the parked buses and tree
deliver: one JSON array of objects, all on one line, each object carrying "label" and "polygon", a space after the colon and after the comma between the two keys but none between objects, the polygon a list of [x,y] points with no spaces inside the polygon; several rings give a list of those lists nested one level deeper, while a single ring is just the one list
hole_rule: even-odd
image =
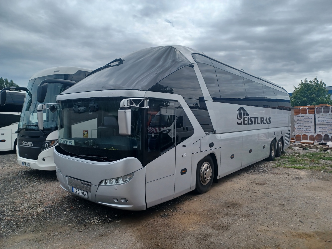
[{"label": "grey cloudy sky above the parked buses and tree", "polygon": [[331,0],[1,0],[0,77],[27,86],[54,66],[96,69],[126,53],[179,44],[293,92],[332,86]]}]

